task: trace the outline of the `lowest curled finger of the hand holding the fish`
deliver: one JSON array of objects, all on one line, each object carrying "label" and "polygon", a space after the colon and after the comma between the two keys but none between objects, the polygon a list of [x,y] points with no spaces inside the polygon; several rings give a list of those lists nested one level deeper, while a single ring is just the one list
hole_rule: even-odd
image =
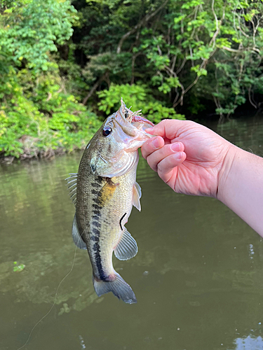
[{"label": "lowest curled finger of the hand holding the fish", "polygon": [[184,152],[178,152],[161,160],[158,165],[158,174],[160,178],[165,183],[168,183],[173,176],[175,168],[182,164],[186,158],[187,155]]}]

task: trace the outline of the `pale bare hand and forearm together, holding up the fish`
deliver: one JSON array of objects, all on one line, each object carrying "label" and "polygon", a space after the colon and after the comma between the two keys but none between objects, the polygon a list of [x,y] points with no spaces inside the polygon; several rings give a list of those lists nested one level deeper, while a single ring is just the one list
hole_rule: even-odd
[{"label": "pale bare hand and forearm together, holding up the fish", "polygon": [[214,197],[263,237],[263,158],[203,125],[162,120],[142,146],[151,169],[177,193]]}]

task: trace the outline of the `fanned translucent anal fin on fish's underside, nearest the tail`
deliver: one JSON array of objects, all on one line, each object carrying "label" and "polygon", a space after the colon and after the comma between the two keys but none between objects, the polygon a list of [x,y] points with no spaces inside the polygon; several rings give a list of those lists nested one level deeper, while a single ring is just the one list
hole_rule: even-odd
[{"label": "fanned translucent anal fin on fish's underside, nearest the tail", "polygon": [[116,258],[119,260],[131,259],[137,254],[137,251],[138,248],[135,239],[130,235],[126,228],[123,228],[119,242],[114,249]]}]

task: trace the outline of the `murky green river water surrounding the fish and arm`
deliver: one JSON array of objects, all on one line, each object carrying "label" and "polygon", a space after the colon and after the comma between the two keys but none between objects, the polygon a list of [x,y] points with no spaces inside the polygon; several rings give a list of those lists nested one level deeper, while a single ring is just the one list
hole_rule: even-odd
[{"label": "murky green river water surrounding the fish and arm", "polygon": [[[262,154],[263,119],[210,127]],[[139,253],[114,258],[138,302],[95,295],[64,181],[80,157],[0,167],[0,349],[25,344],[73,262],[24,349],[263,349],[262,239],[217,200],[173,193],[142,159],[142,211],[127,224]]]}]

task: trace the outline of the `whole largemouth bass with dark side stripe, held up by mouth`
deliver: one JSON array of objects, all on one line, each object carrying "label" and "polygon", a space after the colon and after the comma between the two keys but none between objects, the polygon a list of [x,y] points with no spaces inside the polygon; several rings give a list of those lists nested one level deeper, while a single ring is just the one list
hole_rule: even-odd
[{"label": "whole largemouth bass with dark side stripe, held up by mouth", "polygon": [[133,206],[139,211],[142,190],[136,182],[138,148],[154,126],[140,111],[121,107],[109,116],[83,152],[77,174],[69,174],[68,187],[76,207],[72,237],[87,249],[93,268],[93,286],[100,297],[112,292],[123,302],[137,302],[135,293],[115,271],[112,253],[119,260],[137,254],[137,243],[125,225]]}]

